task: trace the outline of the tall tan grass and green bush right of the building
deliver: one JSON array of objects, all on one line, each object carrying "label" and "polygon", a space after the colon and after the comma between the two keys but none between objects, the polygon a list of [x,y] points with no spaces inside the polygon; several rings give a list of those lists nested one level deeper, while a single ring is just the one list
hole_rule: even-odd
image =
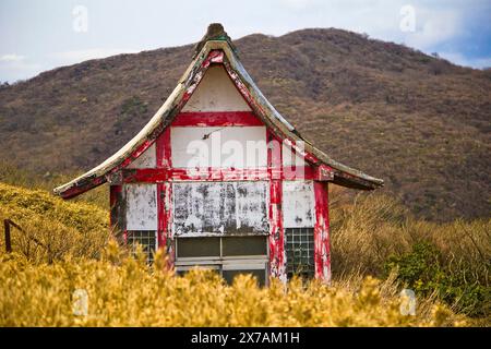
[{"label": "tall tan grass and green bush right of the building", "polygon": [[491,219],[434,224],[415,219],[390,196],[333,194],[335,278],[397,272],[400,286],[491,323]]}]

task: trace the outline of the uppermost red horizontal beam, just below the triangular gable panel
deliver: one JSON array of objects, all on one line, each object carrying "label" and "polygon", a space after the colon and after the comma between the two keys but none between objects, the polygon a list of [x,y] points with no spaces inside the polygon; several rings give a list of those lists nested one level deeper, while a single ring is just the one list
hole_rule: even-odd
[{"label": "uppermost red horizontal beam, just below the triangular gable panel", "polygon": [[262,127],[264,123],[251,111],[181,112],[172,127]]}]

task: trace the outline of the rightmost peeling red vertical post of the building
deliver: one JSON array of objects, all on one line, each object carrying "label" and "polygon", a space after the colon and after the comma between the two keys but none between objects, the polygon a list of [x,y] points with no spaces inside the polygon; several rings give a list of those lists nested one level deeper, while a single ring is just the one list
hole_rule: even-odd
[{"label": "rightmost peeling red vertical post of the building", "polygon": [[315,226],[314,262],[315,278],[331,282],[330,216],[327,183],[314,181]]}]

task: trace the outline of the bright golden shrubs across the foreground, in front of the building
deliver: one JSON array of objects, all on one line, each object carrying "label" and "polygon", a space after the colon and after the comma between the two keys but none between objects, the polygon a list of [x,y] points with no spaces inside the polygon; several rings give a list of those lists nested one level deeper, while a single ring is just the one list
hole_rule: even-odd
[{"label": "bright golden shrubs across the foreground, in front of the building", "polygon": [[[101,260],[67,258],[34,265],[20,255],[0,263],[1,326],[456,326],[463,316],[441,304],[404,315],[402,299],[373,278],[356,292],[294,279],[259,288],[250,276],[231,286],[209,270],[175,277],[158,253],[153,267],[121,257],[109,244]],[[74,291],[87,312],[74,313]],[[12,291],[14,290],[14,291]],[[79,310],[79,308],[75,308]]]}]

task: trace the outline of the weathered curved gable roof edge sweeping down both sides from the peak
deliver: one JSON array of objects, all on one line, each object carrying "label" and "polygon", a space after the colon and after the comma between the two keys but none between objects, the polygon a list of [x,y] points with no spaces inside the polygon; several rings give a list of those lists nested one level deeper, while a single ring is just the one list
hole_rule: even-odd
[{"label": "weathered curved gable roof edge sweeping down both sides from the peak", "polygon": [[[169,95],[164,105],[147,122],[147,124],[111,157],[107,158],[105,161],[74,180],[56,188],[53,190],[56,194],[64,198],[70,198],[92,188],[100,185],[106,181],[109,181],[109,174],[121,168],[125,159],[133,156],[136,151],[142,148],[142,146],[147,147],[155,142],[161,131],[170,125],[173,117],[176,117],[183,107],[181,104],[183,96],[185,94],[192,94],[194,88],[193,86],[196,85],[196,82],[199,82],[203,75],[202,64],[212,50],[224,51],[227,60],[226,63],[229,64],[232,74],[236,75],[235,77],[237,82],[243,84],[248,89],[248,93],[251,95],[254,103],[254,106],[251,107],[258,117],[260,117],[266,125],[273,129],[273,131],[291,141],[292,144],[303,141],[304,151],[307,153],[313,154],[322,164],[333,168],[334,183],[363,190],[372,190],[383,185],[383,180],[371,177],[362,171],[350,168],[332,159],[325,153],[306,141],[300,133],[298,133],[297,130],[285,118],[283,118],[283,116],[273,107],[266,97],[264,97],[262,92],[243,68],[242,63],[238,60],[237,53],[235,52],[229,38],[224,39],[223,34],[225,31],[220,32],[218,29],[212,29],[211,33],[212,34],[209,36],[205,35],[204,41],[201,41],[203,43],[203,46],[200,52],[194,56],[193,61],[179,80],[176,88]],[[216,35],[218,35],[218,37]],[[144,149],[146,149],[146,147],[144,147]],[[144,152],[144,149],[142,152]]]}]

